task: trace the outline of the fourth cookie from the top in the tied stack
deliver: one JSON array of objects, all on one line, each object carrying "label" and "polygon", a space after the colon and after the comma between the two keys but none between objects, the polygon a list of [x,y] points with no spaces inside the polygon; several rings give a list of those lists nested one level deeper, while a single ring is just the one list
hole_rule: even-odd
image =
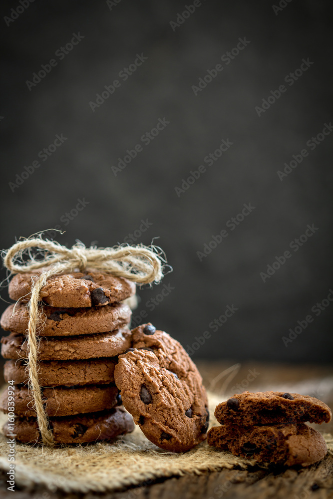
[{"label": "fourth cookie from the top in the tied stack", "polygon": [[[114,366],[117,358],[88,360],[50,360],[39,362],[39,385],[82,386],[108,385],[114,383]],[[27,384],[28,372],[24,360],[7,360],[3,368],[5,381],[14,380],[15,385]]]}]

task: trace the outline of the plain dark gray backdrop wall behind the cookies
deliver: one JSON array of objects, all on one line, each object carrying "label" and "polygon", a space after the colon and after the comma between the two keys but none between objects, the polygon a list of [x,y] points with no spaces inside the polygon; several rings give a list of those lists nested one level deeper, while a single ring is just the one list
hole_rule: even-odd
[{"label": "plain dark gray backdrop wall behind the cookies", "polygon": [[[110,10],[105,1],[36,0],[9,26],[3,16],[18,2],[4,3],[1,247],[57,225],[61,244],[112,246],[148,219],[137,242],[159,237],[174,269],[164,283],[174,289],[153,311],[146,301],[162,285],[142,289],[135,315],[147,310],[184,346],[210,331],[201,358],[330,361],[331,304],[288,347],[282,337],[332,286],[331,137],[283,182],[277,175],[330,122],[330,2],[293,0],[278,15],[272,3],[203,1],[175,31],[182,1],[122,0]],[[26,80],[73,32],[84,39],[29,91]],[[192,85],[239,37],[251,43],[195,96]],[[92,112],[89,101],[137,53],[148,59]],[[258,117],[255,106],[302,58],[314,64]],[[170,124],[115,177],[117,158],[163,117]],[[11,192],[16,173],[61,133],[64,144]],[[233,146],[178,198],[175,187],[222,138]],[[61,217],[83,198],[88,205],[65,226]],[[249,202],[255,210],[199,261],[197,251]],[[260,272],[308,224],[318,231],[264,283]],[[232,304],[237,312],[210,330]]]}]

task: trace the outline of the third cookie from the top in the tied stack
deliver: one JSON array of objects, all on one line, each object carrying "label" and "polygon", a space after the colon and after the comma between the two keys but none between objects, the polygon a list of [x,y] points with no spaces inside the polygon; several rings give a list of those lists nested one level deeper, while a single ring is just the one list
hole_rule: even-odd
[{"label": "third cookie from the top in the tied stack", "polygon": [[[1,338],[1,355],[5,359],[26,359],[27,338],[10,333]],[[38,360],[77,360],[114,357],[131,345],[131,331],[123,327],[107,333],[40,338]]]}]

